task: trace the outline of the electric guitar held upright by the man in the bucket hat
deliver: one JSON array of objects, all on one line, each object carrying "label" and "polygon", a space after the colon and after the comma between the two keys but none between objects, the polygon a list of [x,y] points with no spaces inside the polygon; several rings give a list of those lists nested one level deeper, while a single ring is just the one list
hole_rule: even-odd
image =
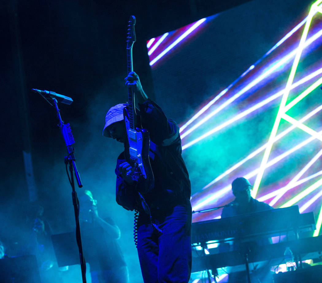
[{"label": "electric guitar held upright by the man in the bucket hat", "polygon": [[[128,74],[133,71],[132,47],[136,41],[134,25],[135,17],[130,16],[126,45]],[[128,106],[124,108],[123,114],[129,143],[130,160],[128,162],[136,169],[133,174],[136,181],[142,181],[140,178],[143,176],[144,184],[140,185],[140,191],[147,193],[154,186],[154,176],[149,160],[150,137],[149,132],[142,129],[140,118],[137,116],[134,92],[131,87],[128,88]]]}]

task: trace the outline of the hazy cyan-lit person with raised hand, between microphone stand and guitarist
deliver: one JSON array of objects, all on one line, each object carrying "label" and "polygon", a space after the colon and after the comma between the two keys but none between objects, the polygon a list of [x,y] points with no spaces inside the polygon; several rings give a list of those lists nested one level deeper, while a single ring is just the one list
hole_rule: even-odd
[{"label": "hazy cyan-lit person with raised hand, between microphone stand and guitarist", "polygon": [[128,267],[117,242],[118,226],[109,217],[99,217],[90,191],[85,190],[78,199],[82,246],[92,283],[128,283]]}]

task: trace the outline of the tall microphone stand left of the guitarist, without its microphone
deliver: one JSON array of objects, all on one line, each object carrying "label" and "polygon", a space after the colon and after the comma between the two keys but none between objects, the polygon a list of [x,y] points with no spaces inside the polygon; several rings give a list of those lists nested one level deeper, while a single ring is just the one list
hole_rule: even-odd
[{"label": "tall microphone stand left of the guitarist, without its microphone", "polygon": [[59,119],[59,123],[60,123],[59,127],[61,128],[62,136],[65,140],[65,144],[66,144],[67,151],[68,151],[68,156],[64,157],[64,161],[66,164],[66,169],[67,169],[67,164],[69,164],[69,171],[70,171],[70,176],[71,176],[70,183],[71,183],[71,189],[72,189],[71,197],[72,197],[72,202],[73,202],[73,206],[74,206],[74,214],[75,214],[75,222],[76,222],[76,241],[77,241],[79,255],[80,255],[82,280],[83,280],[83,283],[86,283],[86,264],[85,264],[85,259],[83,256],[83,248],[82,248],[82,244],[81,244],[81,229],[80,229],[80,222],[79,222],[79,218],[78,218],[78,216],[79,216],[79,202],[78,202],[78,198],[77,198],[77,193],[75,191],[73,171],[75,171],[75,177],[76,177],[78,187],[81,188],[83,186],[83,184],[81,183],[81,177],[77,171],[77,167],[76,167],[76,163],[75,163],[75,156],[74,156],[75,148],[71,146],[75,142],[74,138],[73,138],[73,134],[71,132],[71,128],[69,127],[69,124],[65,125],[64,122],[62,121],[62,117],[60,115],[60,110],[58,108],[57,100],[55,98],[53,98],[52,100],[55,104],[55,108],[57,111],[57,118]]}]

